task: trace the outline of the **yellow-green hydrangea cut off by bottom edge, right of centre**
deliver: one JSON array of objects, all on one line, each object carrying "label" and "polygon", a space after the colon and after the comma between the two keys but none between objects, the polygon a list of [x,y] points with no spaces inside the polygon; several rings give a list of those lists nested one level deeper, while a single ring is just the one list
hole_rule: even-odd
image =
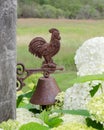
[{"label": "yellow-green hydrangea cut off by bottom edge, right of centre", "polygon": [[52,130],[96,130],[96,129],[80,123],[66,123],[60,125],[57,128],[53,128]]}]

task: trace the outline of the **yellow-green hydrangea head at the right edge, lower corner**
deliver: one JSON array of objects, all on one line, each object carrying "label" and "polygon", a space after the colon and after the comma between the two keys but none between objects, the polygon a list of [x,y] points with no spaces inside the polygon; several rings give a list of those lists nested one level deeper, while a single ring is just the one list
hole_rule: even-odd
[{"label": "yellow-green hydrangea head at the right edge, lower corner", "polygon": [[104,93],[93,97],[87,104],[92,119],[104,125]]}]

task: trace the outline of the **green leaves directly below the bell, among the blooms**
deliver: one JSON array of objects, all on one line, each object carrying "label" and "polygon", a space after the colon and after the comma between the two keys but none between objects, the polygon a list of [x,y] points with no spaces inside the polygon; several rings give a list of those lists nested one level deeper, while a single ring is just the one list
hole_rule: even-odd
[{"label": "green leaves directly below the bell, among the blooms", "polygon": [[49,111],[44,110],[40,113],[39,118],[44,121],[50,128],[57,127],[62,123],[62,119],[57,117],[49,117]]}]

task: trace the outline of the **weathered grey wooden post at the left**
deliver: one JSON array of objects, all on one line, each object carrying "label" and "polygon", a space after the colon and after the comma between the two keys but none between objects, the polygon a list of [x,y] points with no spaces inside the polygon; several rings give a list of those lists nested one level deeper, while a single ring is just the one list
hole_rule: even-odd
[{"label": "weathered grey wooden post at the left", "polygon": [[0,0],[0,122],[16,115],[16,5]]}]

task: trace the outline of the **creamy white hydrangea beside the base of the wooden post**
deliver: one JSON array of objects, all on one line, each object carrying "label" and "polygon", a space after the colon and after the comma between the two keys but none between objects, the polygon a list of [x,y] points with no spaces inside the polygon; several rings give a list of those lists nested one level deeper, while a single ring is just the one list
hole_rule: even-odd
[{"label": "creamy white hydrangea beside the base of the wooden post", "polygon": [[17,111],[16,120],[20,123],[20,125],[29,122],[37,122],[40,124],[44,124],[42,120],[36,118],[32,112],[28,111],[25,108],[17,108],[16,111]]}]

